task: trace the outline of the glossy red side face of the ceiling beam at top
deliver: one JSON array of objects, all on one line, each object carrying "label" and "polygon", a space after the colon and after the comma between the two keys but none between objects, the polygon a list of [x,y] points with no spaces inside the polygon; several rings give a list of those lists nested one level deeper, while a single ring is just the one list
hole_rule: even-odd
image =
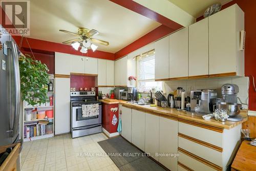
[{"label": "glossy red side face of the ceiling beam at top", "polygon": [[171,19],[169,19],[151,9],[148,9],[132,0],[109,0],[109,1],[116,3],[124,8],[129,9],[129,10],[132,10],[136,13],[139,13],[147,18],[155,20],[156,22],[161,23],[162,25],[167,26],[171,29],[178,30],[183,27],[180,24],[174,22],[173,20],[171,20]]}]

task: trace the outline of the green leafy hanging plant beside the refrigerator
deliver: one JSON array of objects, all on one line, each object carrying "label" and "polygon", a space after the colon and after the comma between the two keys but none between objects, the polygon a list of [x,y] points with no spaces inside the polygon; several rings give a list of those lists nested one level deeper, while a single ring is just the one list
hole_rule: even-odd
[{"label": "green leafy hanging plant beside the refrigerator", "polygon": [[[29,55],[27,55],[29,56]],[[22,100],[31,105],[46,103],[49,101],[48,92],[48,68],[41,61],[34,60],[25,55],[19,56],[20,92]]]}]

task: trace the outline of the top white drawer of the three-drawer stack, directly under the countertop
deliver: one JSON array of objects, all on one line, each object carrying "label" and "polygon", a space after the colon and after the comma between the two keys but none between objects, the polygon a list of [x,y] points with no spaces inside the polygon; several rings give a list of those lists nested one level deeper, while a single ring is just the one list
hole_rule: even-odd
[{"label": "top white drawer of the three-drawer stack, directly under the countertop", "polygon": [[199,126],[179,122],[179,133],[210,143],[212,145],[223,147],[222,133],[220,132],[216,132],[216,131],[204,129]]}]

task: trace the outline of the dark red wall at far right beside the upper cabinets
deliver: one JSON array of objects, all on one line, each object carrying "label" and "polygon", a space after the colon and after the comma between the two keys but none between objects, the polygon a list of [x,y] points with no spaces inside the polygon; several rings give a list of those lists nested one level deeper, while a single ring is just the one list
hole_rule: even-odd
[{"label": "dark red wall at far right beside the upper cabinets", "polygon": [[[222,10],[233,5],[238,4],[244,11],[245,16],[245,76],[250,77],[249,88],[249,110],[256,111],[256,92],[253,90],[252,77],[254,76],[256,81],[256,69],[255,69],[255,55],[256,55],[256,22],[255,22],[255,9],[256,1],[254,0],[233,0],[222,7]],[[203,16],[197,18],[197,21],[203,19]]]}]

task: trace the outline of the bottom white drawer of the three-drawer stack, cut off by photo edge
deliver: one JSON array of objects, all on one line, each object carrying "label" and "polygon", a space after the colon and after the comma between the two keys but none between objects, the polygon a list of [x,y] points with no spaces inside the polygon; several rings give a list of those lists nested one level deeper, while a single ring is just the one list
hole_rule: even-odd
[{"label": "bottom white drawer of the three-drawer stack, cut off by photo edge", "polygon": [[[179,152],[179,163],[178,163],[178,170],[204,170],[204,171],[216,171],[220,170],[220,168],[213,168],[193,157],[190,157],[182,152]],[[183,167],[182,167],[183,165]],[[188,167],[187,169],[184,168],[184,165]]]}]

